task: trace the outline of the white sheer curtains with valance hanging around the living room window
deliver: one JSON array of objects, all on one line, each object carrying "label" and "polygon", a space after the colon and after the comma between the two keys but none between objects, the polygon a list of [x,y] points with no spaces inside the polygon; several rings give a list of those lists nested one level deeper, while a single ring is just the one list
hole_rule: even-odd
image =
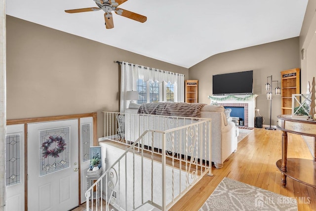
[{"label": "white sheer curtains with valance hanging around the living room window", "polygon": [[145,82],[149,80],[170,82],[174,84],[175,102],[184,102],[184,75],[122,61],[120,62],[120,112],[124,112],[129,105],[125,100],[126,91],[136,91],[138,79],[143,79]]}]

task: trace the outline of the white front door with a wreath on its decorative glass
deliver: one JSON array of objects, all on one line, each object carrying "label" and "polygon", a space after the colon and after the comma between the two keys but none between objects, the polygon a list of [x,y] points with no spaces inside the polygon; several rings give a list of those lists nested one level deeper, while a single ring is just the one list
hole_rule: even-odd
[{"label": "white front door with a wreath on its decorative glass", "polygon": [[79,205],[78,120],[28,124],[28,210]]}]

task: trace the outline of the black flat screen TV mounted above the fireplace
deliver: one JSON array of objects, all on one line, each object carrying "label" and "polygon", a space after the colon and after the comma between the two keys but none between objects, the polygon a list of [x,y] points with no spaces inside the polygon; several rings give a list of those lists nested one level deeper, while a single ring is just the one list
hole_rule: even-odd
[{"label": "black flat screen TV mounted above the fireplace", "polygon": [[213,75],[213,95],[252,94],[253,71]]}]

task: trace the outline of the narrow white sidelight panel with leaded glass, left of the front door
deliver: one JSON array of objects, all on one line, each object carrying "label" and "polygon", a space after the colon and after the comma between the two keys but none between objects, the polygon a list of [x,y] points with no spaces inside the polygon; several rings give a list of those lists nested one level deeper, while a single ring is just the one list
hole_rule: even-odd
[{"label": "narrow white sidelight panel with leaded glass, left of the front door", "polygon": [[6,126],[6,210],[24,211],[24,124]]}]

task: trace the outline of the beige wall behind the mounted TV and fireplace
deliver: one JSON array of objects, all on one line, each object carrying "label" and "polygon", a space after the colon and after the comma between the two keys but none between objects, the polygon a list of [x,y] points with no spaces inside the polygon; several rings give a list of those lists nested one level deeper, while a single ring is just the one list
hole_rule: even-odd
[{"label": "beige wall behind the mounted TV and fireplace", "polygon": [[[299,39],[292,38],[220,53],[191,67],[189,78],[199,80],[199,102],[210,103],[207,96],[212,95],[213,75],[253,70],[253,92],[259,95],[256,98],[256,108],[265,119],[264,125],[269,125],[270,101],[266,99],[265,90],[267,77],[272,75],[273,80],[278,80],[280,86],[280,71],[300,67],[298,49]],[[276,85],[274,83],[273,88]],[[276,125],[280,108],[280,95],[273,95],[272,125]]]}]

